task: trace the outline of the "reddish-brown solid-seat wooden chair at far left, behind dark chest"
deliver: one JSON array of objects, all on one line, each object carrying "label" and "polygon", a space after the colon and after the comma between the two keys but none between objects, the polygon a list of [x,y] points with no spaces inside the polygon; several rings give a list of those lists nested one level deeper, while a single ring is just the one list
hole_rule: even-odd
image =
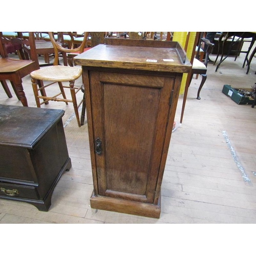
[{"label": "reddish-brown solid-seat wooden chair at far left, behind dark chest", "polygon": [[[30,33],[32,35],[32,32]],[[20,100],[24,106],[28,106],[28,101],[23,90],[22,78],[39,68],[38,59],[35,53],[35,41],[33,36],[30,38],[30,45],[32,46],[31,60],[9,58],[6,51],[5,38],[3,37],[2,32],[0,32],[0,81],[8,97],[12,97],[6,83],[6,80],[10,80],[18,100]],[[40,82],[39,86],[42,86]],[[42,91],[42,93],[44,94],[44,91]]]}]

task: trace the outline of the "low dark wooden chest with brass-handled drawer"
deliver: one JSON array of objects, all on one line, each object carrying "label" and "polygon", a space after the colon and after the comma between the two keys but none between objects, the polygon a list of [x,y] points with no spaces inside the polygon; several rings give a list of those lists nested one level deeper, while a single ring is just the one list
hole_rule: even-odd
[{"label": "low dark wooden chest with brass-handled drawer", "polygon": [[0,105],[0,198],[48,211],[54,187],[71,168],[64,113]]}]

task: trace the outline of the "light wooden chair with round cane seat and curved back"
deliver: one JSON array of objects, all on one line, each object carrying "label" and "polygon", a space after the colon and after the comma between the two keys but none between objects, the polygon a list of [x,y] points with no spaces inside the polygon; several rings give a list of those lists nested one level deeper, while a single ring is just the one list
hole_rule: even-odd
[{"label": "light wooden chair with round cane seat and curved back", "polygon": [[[81,126],[81,124],[79,121],[78,108],[79,108],[80,104],[82,103],[82,101],[79,104],[77,104],[76,94],[77,94],[77,92],[79,92],[81,90],[81,87],[75,87],[75,80],[81,76],[82,69],[80,67],[77,68],[77,67],[58,65],[58,63],[59,63],[58,51],[62,51],[65,53],[79,51],[80,53],[82,53],[83,48],[86,45],[87,35],[88,35],[88,32],[84,32],[84,40],[78,48],[68,49],[68,48],[62,47],[61,45],[57,44],[57,42],[54,39],[53,32],[49,32],[49,36],[50,36],[50,39],[51,39],[51,42],[53,44],[54,51],[55,51],[53,66],[35,70],[35,71],[31,72],[31,74],[30,74],[30,76],[32,78],[31,81],[32,81],[32,87],[33,87],[33,92],[35,95],[35,101],[36,101],[37,108],[40,108],[41,104],[44,104],[49,101],[63,101],[66,104],[68,104],[68,102],[72,102],[79,127]],[[46,84],[46,86],[44,86],[44,87],[40,87],[37,84],[38,80],[45,80],[45,81],[49,81],[50,83]],[[63,86],[62,82],[69,82],[69,86]],[[53,96],[46,96],[46,95],[39,96],[39,94],[38,94],[39,91],[45,90],[45,88],[47,88],[49,86],[54,86],[55,83],[58,83],[58,87],[60,89],[59,93],[57,93],[56,95],[53,95]],[[70,89],[71,99],[66,98],[65,88]],[[62,95],[62,98],[59,98],[58,97],[59,95]],[[42,99],[43,101],[40,102],[40,99]]]}]

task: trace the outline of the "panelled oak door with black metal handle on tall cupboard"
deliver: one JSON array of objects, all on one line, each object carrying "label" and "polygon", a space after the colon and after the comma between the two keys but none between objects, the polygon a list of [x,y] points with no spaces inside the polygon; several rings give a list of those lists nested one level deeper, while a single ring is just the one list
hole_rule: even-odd
[{"label": "panelled oak door with black metal handle on tall cupboard", "polygon": [[153,203],[175,77],[90,71],[98,194]]}]

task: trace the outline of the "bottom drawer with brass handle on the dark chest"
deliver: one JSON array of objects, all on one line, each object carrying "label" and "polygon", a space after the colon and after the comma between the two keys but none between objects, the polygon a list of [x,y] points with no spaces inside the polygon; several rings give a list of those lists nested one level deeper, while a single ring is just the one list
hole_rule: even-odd
[{"label": "bottom drawer with brass handle on the dark chest", "polygon": [[38,199],[36,188],[33,186],[15,185],[0,182],[0,195],[11,198]]}]

